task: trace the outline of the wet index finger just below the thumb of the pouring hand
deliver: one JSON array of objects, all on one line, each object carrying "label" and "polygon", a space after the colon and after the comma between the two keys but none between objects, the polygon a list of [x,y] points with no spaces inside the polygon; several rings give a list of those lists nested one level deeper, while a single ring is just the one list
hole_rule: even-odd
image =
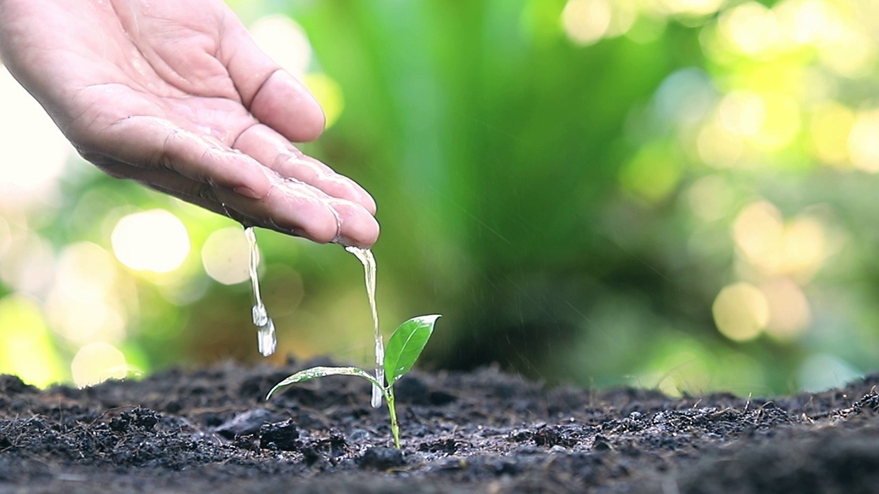
[{"label": "wet index finger just below the thumb of the pouring hand", "polygon": [[350,200],[375,214],[375,200],[351,178],[305,156],[287,138],[265,125],[254,125],[238,136],[234,147],[264,163],[281,177],[296,178],[339,199]]}]

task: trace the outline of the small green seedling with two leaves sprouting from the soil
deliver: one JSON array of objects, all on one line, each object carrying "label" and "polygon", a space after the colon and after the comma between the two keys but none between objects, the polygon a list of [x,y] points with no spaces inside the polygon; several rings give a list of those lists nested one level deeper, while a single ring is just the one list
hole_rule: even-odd
[{"label": "small green seedling with two leaves sprouting from the soil", "polygon": [[433,334],[433,325],[436,324],[439,315],[412,317],[409,321],[400,324],[388,340],[385,349],[384,371],[387,382],[381,382],[373,374],[358,367],[311,367],[293,374],[284,381],[275,384],[265,399],[269,399],[279,389],[287,388],[297,382],[310,381],[327,375],[356,375],[362,377],[381,389],[381,394],[388,403],[390,414],[390,432],[394,435],[394,447],[400,449],[400,426],[396,421],[396,408],[394,406],[394,383],[398,381],[409,369],[415,365],[421,351],[425,349],[427,340]]}]

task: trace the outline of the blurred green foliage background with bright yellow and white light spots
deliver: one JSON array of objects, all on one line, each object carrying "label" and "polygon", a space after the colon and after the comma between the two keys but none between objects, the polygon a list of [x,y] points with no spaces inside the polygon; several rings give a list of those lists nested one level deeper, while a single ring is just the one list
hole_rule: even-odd
[{"label": "blurred green foliage background with bright yellow and white light spots", "polygon": [[[374,194],[385,335],[549,383],[824,389],[879,361],[874,0],[235,0]],[[0,76],[0,372],[262,360],[239,226],[84,163]],[[258,231],[279,352],[367,364],[356,258]]]}]

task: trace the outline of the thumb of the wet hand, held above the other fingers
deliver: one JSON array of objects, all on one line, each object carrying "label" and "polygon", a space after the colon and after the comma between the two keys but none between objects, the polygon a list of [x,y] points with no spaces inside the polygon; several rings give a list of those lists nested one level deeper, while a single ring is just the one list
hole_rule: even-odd
[{"label": "thumb of the wet hand, held above the other fingers", "polygon": [[244,106],[288,141],[313,141],[323,133],[321,106],[305,86],[273,62],[235,19],[222,39],[222,60]]}]

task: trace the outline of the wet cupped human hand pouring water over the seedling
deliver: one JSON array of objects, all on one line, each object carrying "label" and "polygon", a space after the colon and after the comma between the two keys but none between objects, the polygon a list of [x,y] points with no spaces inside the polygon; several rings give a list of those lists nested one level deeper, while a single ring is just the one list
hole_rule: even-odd
[{"label": "wet cupped human hand pouring water over the seedling", "polygon": [[323,113],[221,0],[0,0],[0,56],[85,159],[247,225],[372,245],[375,202],[290,142]]}]

